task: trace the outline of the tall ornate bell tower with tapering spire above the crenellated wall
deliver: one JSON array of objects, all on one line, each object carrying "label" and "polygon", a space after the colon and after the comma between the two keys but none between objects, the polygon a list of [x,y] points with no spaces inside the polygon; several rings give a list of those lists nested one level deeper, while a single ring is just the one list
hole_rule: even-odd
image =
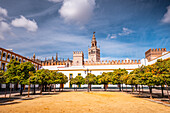
[{"label": "tall ornate bell tower with tapering spire above the crenellated wall", "polygon": [[88,48],[88,61],[89,62],[99,62],[100,61],[100,48],[97,48],[97,41],[95,37],[95,32],[93,33],[91,48]]}]

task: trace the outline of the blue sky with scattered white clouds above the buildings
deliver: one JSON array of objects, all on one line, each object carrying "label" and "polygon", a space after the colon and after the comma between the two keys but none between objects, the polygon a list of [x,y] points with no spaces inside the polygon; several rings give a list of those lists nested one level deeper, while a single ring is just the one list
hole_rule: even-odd
[{"label": "blue sky with scattered white clouds above the buildings", "polygon": [[170,51],[170,0],[0,0],[0,47],[23,56],[87,59],[93,32],[101,60]]}]

